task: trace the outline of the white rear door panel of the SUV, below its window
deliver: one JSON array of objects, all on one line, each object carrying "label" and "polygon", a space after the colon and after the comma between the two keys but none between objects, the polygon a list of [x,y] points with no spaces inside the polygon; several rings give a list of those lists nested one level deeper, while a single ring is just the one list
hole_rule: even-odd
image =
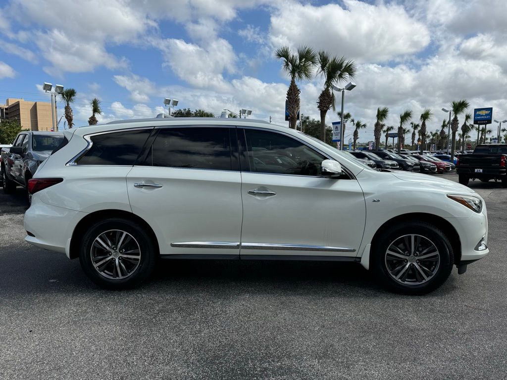
[{"label": "white rear door panel of the SUV, below its window", "polygon": [[[161,184],[136,188],[134,183]],[[238,242],[241,175],[234,171],[135,166],[127,176],[132,212],[157,235],[161,254],[239,254],[236,249],[171,247],[174,242]]]}]

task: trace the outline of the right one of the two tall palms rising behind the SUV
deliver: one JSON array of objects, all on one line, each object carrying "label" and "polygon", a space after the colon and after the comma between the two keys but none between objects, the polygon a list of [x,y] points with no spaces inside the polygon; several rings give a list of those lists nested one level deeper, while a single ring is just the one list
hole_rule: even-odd
[{"label": "right one of the two tall palms rising behind the SUV", "polygon": [[324,79],[324,88],[318,97],[317,108],[320,111],[320,139],[325,141],[325,115],[331,107],[335,110],[335,93],[331,91],[332,85],[354,78],[357,67],[353,61],[345,61],[344,57],[331,58],[324,51],[318,52],[317,66],[317,74]]}]

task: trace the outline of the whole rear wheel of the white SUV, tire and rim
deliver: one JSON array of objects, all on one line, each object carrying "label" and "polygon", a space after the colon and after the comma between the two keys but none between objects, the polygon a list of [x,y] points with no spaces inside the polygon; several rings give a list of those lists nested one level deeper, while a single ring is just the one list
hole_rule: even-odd
[{"label": "whole rear wheel of the white SUV, tire and rim", "polygon": [[127,289],[146,281],[157,253],[143,227],[121,218],[92,225],[83,237],[80,262],[86,275],[107,289]]}]

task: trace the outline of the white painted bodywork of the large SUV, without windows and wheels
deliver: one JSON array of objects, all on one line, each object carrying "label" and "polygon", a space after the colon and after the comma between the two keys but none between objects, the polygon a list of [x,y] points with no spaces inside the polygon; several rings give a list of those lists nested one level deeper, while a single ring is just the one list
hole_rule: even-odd
[{"label": "white painted bodywork of the large SUV, without windows and wheels", "polygon": [[[106,131],[153,126],[245,126],[294,136],[338,161],[355,179],[327,179],[250,172],[132,166],[66,166],[87,146],[84,136]],[[476,213],[447,198],[448,194],[481,198],[468,187],[434,176],[408,172],[377,172],[348,154],[300,132],[248,120],[142,121],[90,126],[66,131],[69,143],[46,160],[34,177],[61,177],[63,182],[36,193],[25,214],[26,240],[68,255],[69,239],[85,215],[100,210],[133,212],[152,226],[161,253],[370,255],[372,238],[393,217],[426,213],[448,220],[456,229],[462,259],[477,259],[487,242],[487,214]],[[139,189],[152,181],[162,188]],[[276,196],[247,194],[264,186]],[[373,202],[373,200],[379,200]],[[483,201],[484,203],[484,201]],[[171,247],[175,242],[298,244],[352,248],[354,252],[247,250]],[[374,247],[371,247],[373,250]],[[368,268],[368,260],[361,260]]]}]

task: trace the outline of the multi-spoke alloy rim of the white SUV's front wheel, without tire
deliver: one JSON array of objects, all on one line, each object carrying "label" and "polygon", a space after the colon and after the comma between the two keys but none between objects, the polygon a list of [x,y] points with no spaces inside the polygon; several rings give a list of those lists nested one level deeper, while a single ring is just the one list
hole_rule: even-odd
[{"label": "multi-spoke alloy rim of the white SUV's front wheel, without tire", "polygon": [[424,236],[404,235],[387,248],[385,265],[394,280],[404,285],[419,285],[436,275],[440,266],[440,252]]}]

